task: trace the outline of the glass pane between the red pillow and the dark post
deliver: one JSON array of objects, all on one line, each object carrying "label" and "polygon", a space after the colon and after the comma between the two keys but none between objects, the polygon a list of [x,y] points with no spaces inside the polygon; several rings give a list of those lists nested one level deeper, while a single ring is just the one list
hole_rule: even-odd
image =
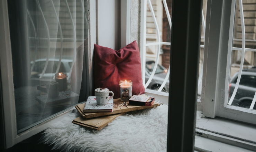
[{"label": "glass pane between the red pillow and the dark post", "polygon": [[[157,54],[159,53],[158,65],[155,70],[155,74],[147,86],[148,89],[158,90],[164,83],[164,79],[167,75],[167,70],[170,66],[170,42],[171,42],[171,27],[169,24],[168,16],[165,11],[165,7],[162,0],[151,0],[152,11],[150,10],[150,4],[147,2],[147,24],[146,24],[146,44],[154,42],[167,42],[166,44],[150,45],[146,47],[146,83],[153,72],[155,66]],[[166,0],[168,6],[169,15],[172,13],[172,0]],[[157,24],[158,28],[156,27]],[[160,39],[158,39],[158,36]],[[164,84],[162,92],[169,91],[169,79]]]}]

